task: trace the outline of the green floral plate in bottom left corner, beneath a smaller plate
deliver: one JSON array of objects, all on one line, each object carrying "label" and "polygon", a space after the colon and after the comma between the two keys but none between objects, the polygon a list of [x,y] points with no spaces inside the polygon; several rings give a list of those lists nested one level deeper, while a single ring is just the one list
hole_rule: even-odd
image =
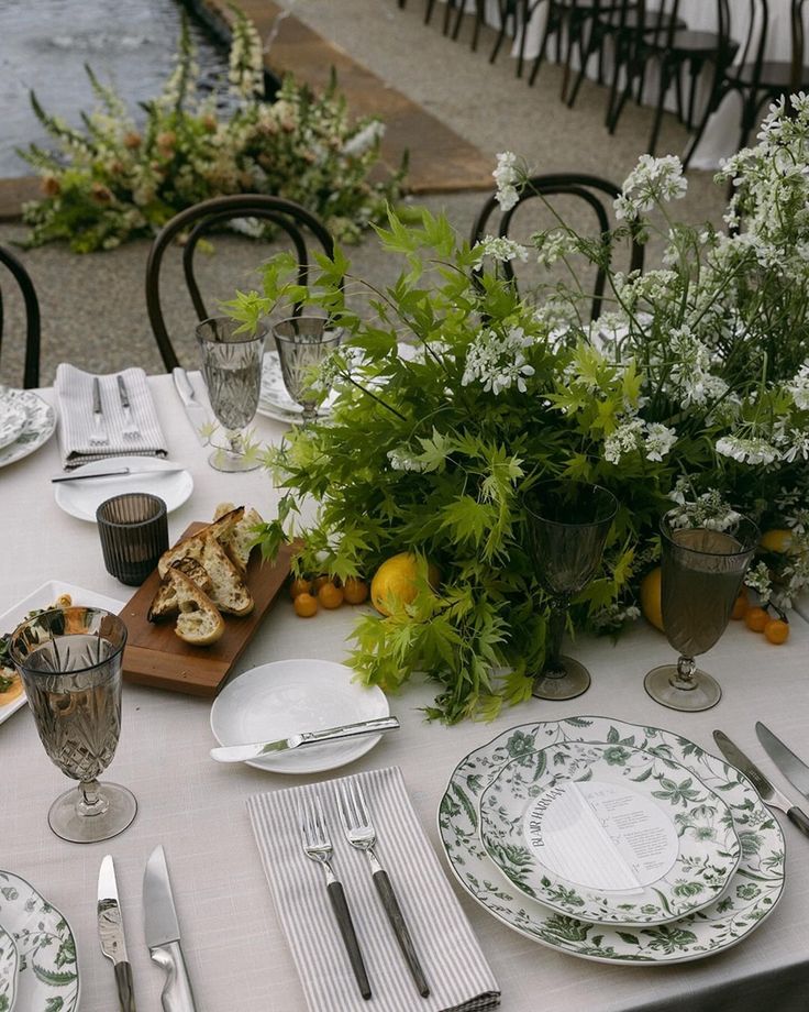
[{"label": "green floral plate in bottom left corner, beneath a smaller plate", "polygon": [[76,942],[58,910],[24,879],[0,871],[0,923],[19,959],[14,1012],[77,1012]]}]

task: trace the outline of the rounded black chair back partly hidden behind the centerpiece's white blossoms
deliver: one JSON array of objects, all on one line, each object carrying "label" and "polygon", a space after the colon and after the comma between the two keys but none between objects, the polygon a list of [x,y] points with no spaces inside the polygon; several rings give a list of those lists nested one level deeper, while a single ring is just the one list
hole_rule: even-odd
[{"label": "rounded black chair back partly hidden behind the centerpiece's white blossoms", "polygon": [[[607,179],[580,173],[557,173],[554,175],[532,176],[520,191],[518,202],[510,210],[503,211],[501,215],[497,234],[499,237],[509,235],[509,229],[514,213],[525,201],[536,198],[546,200],[547,197],[563,194],[578,198],[592,211],[598,223],[599,235],[607,242],[610,232],[610,218],[607,212],[607,207],[605,206],[605,200],[614,200],[616,197],[620,196],[621,189],[616,186],[614,183],[609,183]],[[490,234],[487,230],[487,224],[498,207],[499,205],[494,195],[487,199],[472,227],[472,235],[469,239],[472,245],[479,242],[485,235]],[[643,246],[638,242],[636,238],[633,237],[631,243],[630,271],[642,270]],[[506,262],[501,265],[501,272],[508,280],[514,282],[516,284],[514,271],[510,262]],[[606,272],[603,267],[599,267],[596,272],[596,279],[592,287],[592,310],[590,314],[592,320],[598,319],[601,315],[605,284]]]}]

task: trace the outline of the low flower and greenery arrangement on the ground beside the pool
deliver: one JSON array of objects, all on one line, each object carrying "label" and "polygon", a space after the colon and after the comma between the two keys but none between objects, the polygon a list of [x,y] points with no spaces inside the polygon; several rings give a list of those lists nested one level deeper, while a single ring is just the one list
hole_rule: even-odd
[{"label": "low flower and greenery arrangement on the ground beside the pool", "polygon": [[[49,116],[31,94],[56,150],[32,144],[19,152],[42,178],[42,199],[23,209],[30,245],[66,240],[77,253],[109,250],[153,234],[200,200],[240,193],[295,200],[343,242],[384,220],[406,166],[369,180],[384,124],[375,118],[354,122],[333,77],[315,95],[288,76],[275,101],[264,101],[262,42],[235,8],[229,80],[219,94],[199,87],[185,16],[175,63],[138,120],[89,66],[98,108],[81,113],[81,129]],[[231,111],[223,114],[218,98],[225,89]]]}]

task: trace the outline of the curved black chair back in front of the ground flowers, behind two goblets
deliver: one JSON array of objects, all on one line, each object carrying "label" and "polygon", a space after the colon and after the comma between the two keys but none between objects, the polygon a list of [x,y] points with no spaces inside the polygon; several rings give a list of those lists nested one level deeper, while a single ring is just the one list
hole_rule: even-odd
[{"label": "curved black chair back in front of the ground flowers, behind two goblets", "polygon": [[[298,283],[306,285],[309,277],[309,254],[303,230],[308,230],[320,243],[328,256],[334,253],[334,241],[323,223],[304,207],[282,197],[266,194],[236,194],[229,197],[213,197],[193,207],[186,208],[167,222],[155,237],[146,262],[146,308],[152,330],[157,341],[167,371],[179,365],[171,340],[166,329],[160,305],[160,265],[163,256],[177,235],[185,234],[182,271],[193,308],[199,320],[208,319],[209,312],[197,284],[193,271],[195,253],[200,239],[212,229],[240,218],[259,219],[280,229],[295,246],[298,260]],[[300,311],[296,307],[296,315]]]}]

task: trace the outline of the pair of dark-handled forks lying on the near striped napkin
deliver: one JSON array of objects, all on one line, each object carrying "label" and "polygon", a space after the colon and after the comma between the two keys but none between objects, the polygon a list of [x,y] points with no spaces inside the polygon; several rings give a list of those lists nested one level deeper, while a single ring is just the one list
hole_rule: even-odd
[{"label": "pair of dark-handled forks lying on the near striped napkin", "polygon": [[[390,881],[388,872],[383,868],[376,856],[376,829],[372,822],[367,802],[358,783],[352,781],[347,784],[340,783],[334,790],[334,800],[340,813],[340,821],[348,844],[356,850],[367,855],[368,868],[374,884],[379,894],[385,913],[399,944],[415,988],[422,998],[428,998],[430,987],[424,977],[424,971],[415,953],[415,946],[410,935],[404,915]],[[298,823],[301,835],[301,846],[306,856],[323,868],[325,887],[334,911],[334,916],[343,938],[348,960],[356,978],[359,993],[367,1001],[372,997],[370,982],[363,960],[363,954],[357,941],[354,922],[345,895],[345,890],[337,879],[332,867],[332,846],[329,826],[323,805],[318,794],[313,800],[304,802],[298,807]]]}]

